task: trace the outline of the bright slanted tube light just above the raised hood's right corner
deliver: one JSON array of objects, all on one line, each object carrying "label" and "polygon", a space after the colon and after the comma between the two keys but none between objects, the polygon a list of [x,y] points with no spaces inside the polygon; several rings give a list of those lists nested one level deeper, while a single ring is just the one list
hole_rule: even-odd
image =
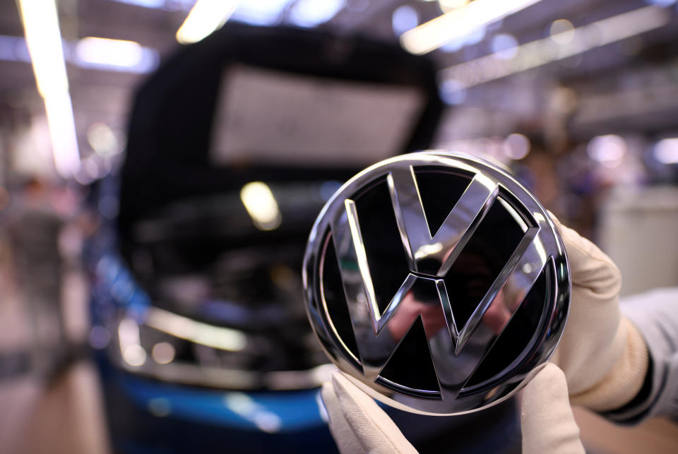
[{"label": "bright slanted tube light just above the raised hood's right corner", "polygon": [[412,54],[426,54],[538,1],[475,0],[403,33],[400,44]]}]

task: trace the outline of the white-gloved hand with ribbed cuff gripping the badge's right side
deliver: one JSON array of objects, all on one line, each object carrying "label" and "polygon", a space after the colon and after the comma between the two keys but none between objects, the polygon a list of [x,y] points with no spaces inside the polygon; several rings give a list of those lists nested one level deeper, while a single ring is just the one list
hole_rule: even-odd
[{"label": "white-gloved hand with ribbed cuff gripping the badge's right side", "polygon": [[638,394],[648,349],[638,328],[619,313],[619,269],[595,244],[552,215],[570,263],[572,294],[563,337],[551,361],[565,374],[574,405],[622,407]]}]

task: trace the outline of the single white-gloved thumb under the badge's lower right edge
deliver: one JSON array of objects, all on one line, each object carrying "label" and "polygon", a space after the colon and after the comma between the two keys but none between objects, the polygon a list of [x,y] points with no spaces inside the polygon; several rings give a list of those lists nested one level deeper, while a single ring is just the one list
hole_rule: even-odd
[{"label": "single white-gloved thumb under the badge's lower right edge", "polygon": [[523,392],[523,454],[584,453],[563,372],[546,364]]}]

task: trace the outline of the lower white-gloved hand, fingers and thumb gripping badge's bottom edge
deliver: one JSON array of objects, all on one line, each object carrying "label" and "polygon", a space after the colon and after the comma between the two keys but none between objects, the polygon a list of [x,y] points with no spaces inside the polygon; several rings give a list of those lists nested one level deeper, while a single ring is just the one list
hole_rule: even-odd
[{"label": "lower white-gloved hand, fingers and thumb gripping badge's bottom edge", "polygon": [[[341,453],[416,453],[386,412],[350,378],[335,372],[323,385],[330,430]],[[546,366],[525,386],[521,412],[523,453],[583,453],[562,371]]]}]

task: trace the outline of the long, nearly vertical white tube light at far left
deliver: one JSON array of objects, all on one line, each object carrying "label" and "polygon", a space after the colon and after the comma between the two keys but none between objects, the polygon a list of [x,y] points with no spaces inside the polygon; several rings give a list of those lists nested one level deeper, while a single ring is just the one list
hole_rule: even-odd
[{"label": "long, nearly vertical white tube light at far left", "polygon": [[80,169],[80,153],[57,6],[54,0],[19,0],[19,6],[37,90],[47,112],[54,167],[69,178]]}]

